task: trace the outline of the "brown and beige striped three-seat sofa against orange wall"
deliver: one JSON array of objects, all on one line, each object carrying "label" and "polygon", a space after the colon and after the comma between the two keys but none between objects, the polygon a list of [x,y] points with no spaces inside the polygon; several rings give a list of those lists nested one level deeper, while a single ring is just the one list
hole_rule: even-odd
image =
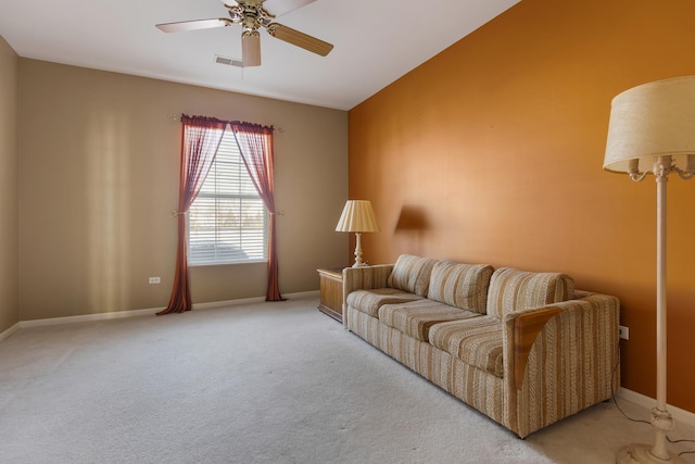
[{"label": "brown and beige striped three-seat sofa against orange wall", "polygon": [[401,255],[343,271],[343,324],[520,438],[607,400],[619,301],[559,273]]}]

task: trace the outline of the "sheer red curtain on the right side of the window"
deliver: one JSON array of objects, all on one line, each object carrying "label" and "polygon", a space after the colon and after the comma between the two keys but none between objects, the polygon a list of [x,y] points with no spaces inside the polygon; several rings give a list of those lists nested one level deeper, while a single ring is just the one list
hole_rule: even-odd
[{"label": "sheer red curtain on the right side of the window", "polygon": [[250,123],[230,123],[239,151],[243,159],[249,175],[253,180],[256,191],[263,199],[265,208],[270,213],[268,237],[268,286],[266,301],[282,301],[280,285],[278,283],[278,253],[275,238],[275,180],[274,180],[274,152],[273,127]]}]

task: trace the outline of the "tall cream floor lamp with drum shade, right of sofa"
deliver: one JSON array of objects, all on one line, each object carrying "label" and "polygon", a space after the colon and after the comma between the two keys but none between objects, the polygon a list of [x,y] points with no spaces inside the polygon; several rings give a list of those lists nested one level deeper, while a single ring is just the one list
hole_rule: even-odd
[{"label": "tall cream floor lamp with drum shade, right of sofa", "polygon": [[682,463],[667,450],[673,419],[666,402],[666,186],[669,174],[695,175],[695,76],[659,80],[618,95],[611,104],[604,170],[641,181],[649,173],[657,185],[656,406],[653,446],[629,444],[622,463]]}]

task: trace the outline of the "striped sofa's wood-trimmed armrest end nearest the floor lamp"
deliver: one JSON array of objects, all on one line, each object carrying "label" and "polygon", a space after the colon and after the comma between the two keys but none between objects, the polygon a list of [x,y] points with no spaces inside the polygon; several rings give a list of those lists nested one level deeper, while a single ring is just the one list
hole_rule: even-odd
[{"label": "striped sofa's wood-trimmed armrest end nearest the floor lamp", "polygon": [[505,315],[506,401],[520,437],[610,398],[619,381],[619,317],[617,298],[581,291]]}]

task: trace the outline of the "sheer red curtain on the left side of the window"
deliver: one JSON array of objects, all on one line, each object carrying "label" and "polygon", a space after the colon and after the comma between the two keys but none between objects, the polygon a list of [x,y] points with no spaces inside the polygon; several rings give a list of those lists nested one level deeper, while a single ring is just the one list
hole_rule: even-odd
[{"label": "sheer red curtain on the left side of the window", "polygon": [[226,121],[214,117],[181,115],[181,172],[178,193],[178,243],[176,272],[169,304],[157,314],[182,313],[192,309],[188,284],[188,256],[186,252],[186,212],[207,176],[215,161],[219,142],[227,127]]}]

